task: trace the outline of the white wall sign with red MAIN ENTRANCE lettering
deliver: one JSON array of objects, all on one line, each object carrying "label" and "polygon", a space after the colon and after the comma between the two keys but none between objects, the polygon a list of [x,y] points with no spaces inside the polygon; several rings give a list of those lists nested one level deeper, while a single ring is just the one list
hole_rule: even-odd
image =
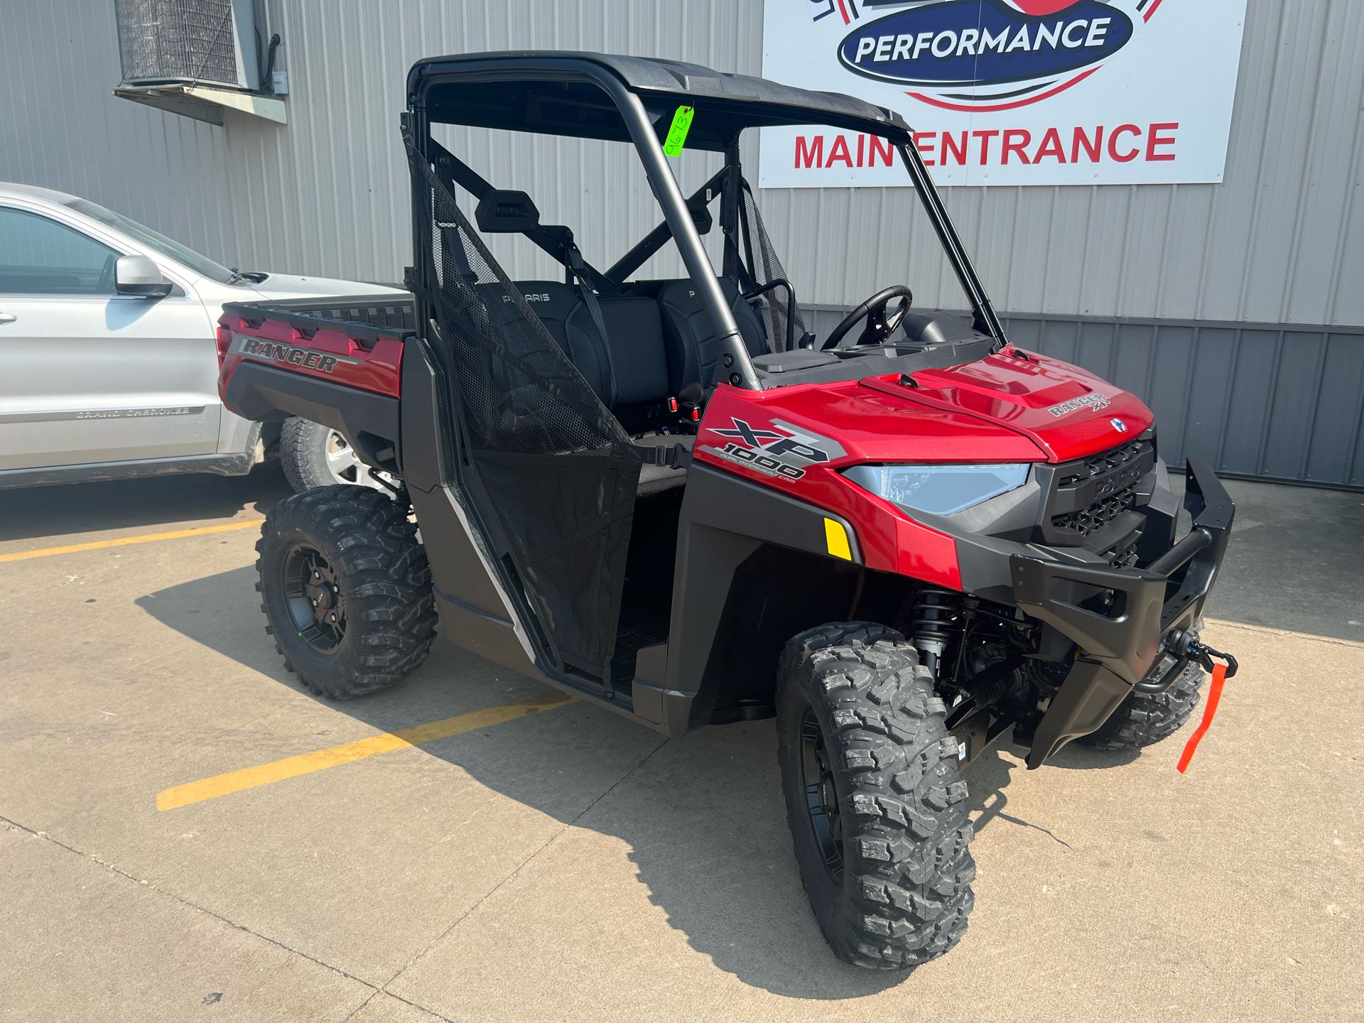
[{"label": "white wall sign with red MAIN ENTRANCE lettering", "polygon": [[[1221,181],[1247,0],[765,0],[762,75],[900,113],[938,184]],[[764,128],[764,188],[907,186],[876,136]]]}]

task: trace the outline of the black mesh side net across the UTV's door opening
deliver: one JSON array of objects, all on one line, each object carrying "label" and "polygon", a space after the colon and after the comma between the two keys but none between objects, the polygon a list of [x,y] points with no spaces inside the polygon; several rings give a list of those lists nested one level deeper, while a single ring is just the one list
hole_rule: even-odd
[{"label": "black mesh side net across the UTV's door opening", "polygon": [[606,679],[644,456],[411,143],[408,160],[430,217],[417,229],[462,496],[507,552],[558,670]]}]

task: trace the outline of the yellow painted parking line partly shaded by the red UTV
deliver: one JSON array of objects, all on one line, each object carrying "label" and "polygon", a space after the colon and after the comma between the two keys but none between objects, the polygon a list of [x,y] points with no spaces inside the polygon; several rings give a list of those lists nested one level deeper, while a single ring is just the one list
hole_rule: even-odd
[{"label": "yellow painted parking line partly shaded by the red UTV", "polygon": [[390,753],[405,746],[420,746],[424,742],[447,739],[475,728],[487,728],[492,724],[525,717],[527,715],[562,707],[573,697],[566,693],[547,693],[544,696],[518,700],[514,704],[502,707],[488,707],[481,711],[460,713],[454,717],[442,717],[438,722],[416,724],[394,732],[379,732],[367,739],[346,742],[340,746],[327,746],[312,753],[300,753],[296,757],[285,757],[269,764],[261,764],[241,771],[229,771],[225,775],[214,775],[199,782],[187,782],[183,786],[164,788],[157,792],[158,810],[176,810],[190,803],[202,803],[205,799],[217,799],[220,795],[241,792],[247,788],[258,788],[271,782],[282,782],[286,777],[311,775],[314,771],[326,771],[329,767],[340,767],[379,753]]}]

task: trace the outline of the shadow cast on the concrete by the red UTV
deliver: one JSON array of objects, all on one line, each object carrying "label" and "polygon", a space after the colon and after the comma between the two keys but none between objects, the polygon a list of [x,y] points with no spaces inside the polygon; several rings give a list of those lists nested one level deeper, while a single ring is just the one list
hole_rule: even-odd
[{"label": "shadow cast on the concrete by the red UTV", "polygon": [[[265,634],[254,582],[254,569],[244,567],[136,603],[164,625],[301,692]],[[427,664],[393,690],[322,702],[394,731],[540,692],[539,683],[438,640]],[[791,855],[772,722],[668,741],[578,702],[480,732],[477,741],[454,737],[423,750],[563,824],[623,840],[649,900],[671,926],[745,983],[790,997],[848,998],[902,983],[913,973],[844,966],[820,936]],[[612,765],[610,772],[604,764]],[[996,820],[1037,827],[1005,810],[1004,790],[1022,769],[998,750],[967,768],[977,831]]]}]

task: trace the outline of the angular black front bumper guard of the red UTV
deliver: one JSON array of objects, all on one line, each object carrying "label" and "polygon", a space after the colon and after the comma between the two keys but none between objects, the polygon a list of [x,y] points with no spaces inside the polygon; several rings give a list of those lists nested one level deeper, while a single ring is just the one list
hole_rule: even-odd
[{"label": "angular black front bumper guard of the red UTV", "polygon": [[[1198,622],[1222,565],[1236,510],[1207,464],[1189,458],[1187,471],[1184,506],[1194,517],[1192,529],[1146,567],[1009,555],[1013,603],[1054,626],[1080,651],[1033,735],[1028,768],[1099,728],[1133,690],[1169,687],[1187,664],[1183,655],[1162,656],[1165,638]],[[1113,599],[1095,602],[1101,593]],[[1102,610],[1094,610],[1101,604]]]}]

